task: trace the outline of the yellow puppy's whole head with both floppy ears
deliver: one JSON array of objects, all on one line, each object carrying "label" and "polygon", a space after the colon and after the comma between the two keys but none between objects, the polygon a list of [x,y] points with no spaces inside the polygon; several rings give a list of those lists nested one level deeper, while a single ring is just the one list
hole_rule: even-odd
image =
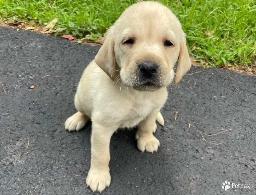
[{"label": "yellow puppy's whole head with both floppy ears", "polygon": [[172,82],[178,58],[175,84],[191,66],[185,33],[167,7],[140,2],[109,28],[95,61],[112,80],[120,75],[134,89],[156,90]]}]

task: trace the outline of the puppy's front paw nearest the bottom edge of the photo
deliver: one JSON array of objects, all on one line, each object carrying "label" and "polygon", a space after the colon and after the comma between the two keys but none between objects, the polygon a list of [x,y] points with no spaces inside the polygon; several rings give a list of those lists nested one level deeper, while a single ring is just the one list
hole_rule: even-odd
[{"label": "puppy's front paw nearest the bottom edge of the photo", "polygon": [[86,185],[89,186],[91,190],[94,191],[103,191],[106,187],[110,185],[110,173],[109,169],[97,169],[90,168],[87,178]]}]

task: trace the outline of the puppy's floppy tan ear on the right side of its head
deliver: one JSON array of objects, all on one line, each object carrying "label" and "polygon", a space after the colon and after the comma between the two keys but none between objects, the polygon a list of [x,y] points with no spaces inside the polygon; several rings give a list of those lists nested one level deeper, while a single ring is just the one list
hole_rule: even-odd
[{"label": "puppy's floppy tan ear on the right side of its head", "polygon": [[186,45],[186,34],[182,31],[182,36],[180,40],[180,56],[179,63],[175,76],[175,85],[180,82],[182,76],[184,76],[191,67],[191,60],[188,54],[188,48]]}]

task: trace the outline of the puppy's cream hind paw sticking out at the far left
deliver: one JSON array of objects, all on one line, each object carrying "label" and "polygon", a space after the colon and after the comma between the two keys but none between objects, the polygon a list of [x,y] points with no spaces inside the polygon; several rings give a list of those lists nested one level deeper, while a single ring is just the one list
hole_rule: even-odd
[{"label": "puppy's cream hind paw sticking out at the far left", "polygon": [[79,131],[88,120],[90,120],[89,117],[78,111],[66,120],[65,129],[68,131]]}]

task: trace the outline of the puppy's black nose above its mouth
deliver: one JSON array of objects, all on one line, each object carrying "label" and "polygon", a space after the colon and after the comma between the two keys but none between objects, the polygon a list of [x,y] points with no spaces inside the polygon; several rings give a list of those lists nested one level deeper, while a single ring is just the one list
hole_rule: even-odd
[{"label": "puppy's black nose above its mouth", "polygon": [[154,61],[144,61],[139,64],[139,72],[145,78],[151,78],[157,74],[158,66]]}]

